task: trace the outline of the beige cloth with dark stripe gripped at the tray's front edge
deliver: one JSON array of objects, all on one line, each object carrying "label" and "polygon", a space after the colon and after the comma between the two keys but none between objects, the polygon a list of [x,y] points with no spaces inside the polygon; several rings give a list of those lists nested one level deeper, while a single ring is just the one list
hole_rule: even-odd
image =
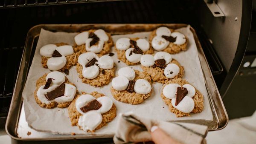
[{"label": "beige cloth with dark stripe gripped at the tray's front edge", "polygon": [[157,125],[166,134],[183,144],[201,144],[207,135],[207,126],[157,121],[146,119],[134,114],[119,115],[116,134],[114,135],[115,144],[135,143],[151,141],[150,129]]}]

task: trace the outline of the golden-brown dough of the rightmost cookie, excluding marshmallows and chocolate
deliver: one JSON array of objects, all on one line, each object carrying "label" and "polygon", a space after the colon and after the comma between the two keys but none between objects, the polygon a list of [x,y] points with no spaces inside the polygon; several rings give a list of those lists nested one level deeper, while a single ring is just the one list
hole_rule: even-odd
[{"label": "golden-brown dough of the rightmost cookie, excluding marshmallows and chocolate", "polygon": [[[179,84],[180,86],[183,86],[184,84],[189,84],[189,82],[182,80],[181,78],[177,78],[177,79],[172,79],[172,80],[168,81],[166,84],[163,85],[163,87],[165,87],[167,84]],[[176,117],[190,116],[189,113],[181,112],[180,110],[173,107],[172,100],[169,98],[166,98],[163,95],[163,89],[162,89],[160,96],[163,99],[163,101],[168,105],[169,110],[172,113],[175,113]],[[195,107],[192,110],[192,113],[202,112],[204,109],[204,96],[201,94],[201,92],[199,92],[197,89],[195,89],[195,96],[192,99],[195,102]]]}]

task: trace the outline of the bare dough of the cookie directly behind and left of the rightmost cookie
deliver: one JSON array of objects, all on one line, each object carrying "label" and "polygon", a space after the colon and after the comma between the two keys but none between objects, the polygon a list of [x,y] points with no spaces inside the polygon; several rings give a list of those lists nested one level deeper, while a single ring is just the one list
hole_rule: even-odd
[{"label": "bare dough of the cookie directly behind and left of the rightmost cookie", "polygon": [[[178,75],[175,76],[175,78],[182,78],[183,75],[184,75],[184,67],[181,66],[180,63],[175,59],[172,59],[172,61],[170,63],[175,63],[180,68],[180,72],[179,72]],[[144,72],[146,72],[150,75],[152,81],[154,81],[154,82],[166,84],[169,80],[171,80],[171,78],[167,78],[164,75],[164,73],[163,73],[164,69],[162,69],[160,67],[157,67],[157,66],[143,66],[143,65],[141,65],[141,67],[142,67]]]}]

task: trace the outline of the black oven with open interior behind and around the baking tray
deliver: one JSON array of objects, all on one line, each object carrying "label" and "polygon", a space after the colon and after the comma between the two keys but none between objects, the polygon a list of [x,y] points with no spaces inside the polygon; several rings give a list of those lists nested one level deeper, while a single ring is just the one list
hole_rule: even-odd
[{"label": "black oven with open interior behind and around the baking tray", "polygon": [[189,24],[197,32],[230,118],[251,115],[256,109],[252,102],[256,98],[253,94],[256,16],[252,3],[252,0],[1,0],[0,125],[3,127],[6,121],[27,32],[38,24]]}]

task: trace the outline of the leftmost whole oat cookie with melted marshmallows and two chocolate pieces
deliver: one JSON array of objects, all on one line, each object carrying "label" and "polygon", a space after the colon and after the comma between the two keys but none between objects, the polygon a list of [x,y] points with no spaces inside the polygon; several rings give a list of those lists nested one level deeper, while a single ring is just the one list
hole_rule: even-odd
[{"label": "leftmost whole oat cookie with melted marshmallows and two chocolate pieces", "polygon": [[[51,79],[50,82],[48,79]],[[65,84],[65,95],[54,98],[52,100],[48,100],[45,96],[47,92],[51,92],[54,89],[57,89],[61,84]],[[39,104],[41,107],[45,107],[48,109],[54,107],[65,108],[70,105],[71,101],[76,97],[77,93],[78,92],[75,85],[73,83],[70,83],[63,73],[55,71],[44,74],[37,80],[34,98],[36,103]]]}]

